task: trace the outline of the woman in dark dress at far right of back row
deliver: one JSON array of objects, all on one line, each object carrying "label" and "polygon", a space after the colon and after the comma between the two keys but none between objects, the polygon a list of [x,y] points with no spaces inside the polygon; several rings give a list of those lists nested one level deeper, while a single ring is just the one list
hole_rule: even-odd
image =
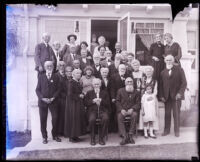
[{"label": "woman in dark dress at far right of back row", "polygon": [[166,42],[165,56],[172,55],[175,58],[175,64],[180,65],[180,59],[182,57],[181,47],[177,42],[173,42],[173,36],[170,33],[164,35]]}]

